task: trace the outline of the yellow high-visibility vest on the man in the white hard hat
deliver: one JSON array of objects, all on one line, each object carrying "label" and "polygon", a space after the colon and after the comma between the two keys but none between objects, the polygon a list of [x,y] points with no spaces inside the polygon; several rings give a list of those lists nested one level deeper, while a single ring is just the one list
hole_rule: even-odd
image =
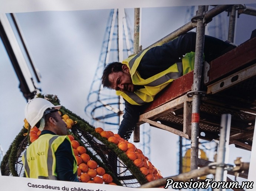
[{"label": "yellow high-visibility vest on the man in the white hard hat", "polygon": [[[69,140],[68,136],[43,134],[31,143],[22,156],[26,177],[57,180],[55,152],[65,139]],[[74,156],[73,173],[75,174],[77,162],[72,147],[71,150]]]}]

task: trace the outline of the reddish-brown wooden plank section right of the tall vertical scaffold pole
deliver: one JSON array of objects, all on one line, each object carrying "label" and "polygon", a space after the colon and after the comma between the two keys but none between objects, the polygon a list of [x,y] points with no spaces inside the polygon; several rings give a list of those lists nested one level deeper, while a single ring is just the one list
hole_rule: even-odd
[{"label": "reddish-brown wooden plank section right of the tall vertical scaffold pole", "polygon": [[256,60],[256,37],[211,61],[208,72],[209,82],[206,84],[212,83],[220,77],[226,77],[254,60]]}]

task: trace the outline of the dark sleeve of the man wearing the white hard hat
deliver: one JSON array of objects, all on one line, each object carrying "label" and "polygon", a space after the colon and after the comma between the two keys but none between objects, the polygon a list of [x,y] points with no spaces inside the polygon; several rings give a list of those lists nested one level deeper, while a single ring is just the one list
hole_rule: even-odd
[{"label": "dark sleeve of the man wearing the white hard hat", "polygon": [[73,173],[75,157],[70,142],[65,139],[55,152],[58,180],[78,182],[77,173]]}]

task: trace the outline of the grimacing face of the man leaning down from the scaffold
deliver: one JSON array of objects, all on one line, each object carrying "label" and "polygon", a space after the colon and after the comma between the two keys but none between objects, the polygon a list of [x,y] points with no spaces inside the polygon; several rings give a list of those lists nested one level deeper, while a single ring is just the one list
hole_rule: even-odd
[{"label": "grimacing face of the man leaning down from the scaffold", "polygon": [[134,92],[134,84],[126,65],[122,66],[122,71],[109,74],[108,79],[111,83],[111,89],[121,92]]}]

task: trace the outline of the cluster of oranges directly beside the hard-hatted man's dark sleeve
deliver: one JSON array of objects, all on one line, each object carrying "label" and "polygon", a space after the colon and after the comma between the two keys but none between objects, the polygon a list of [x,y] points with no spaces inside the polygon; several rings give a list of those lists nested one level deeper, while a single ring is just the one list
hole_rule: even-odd
[{"label": "cluster of oranges directly beside the hard-hatted man's dark sleeve", "polygon": [[83,183],[97,183],[97,184],[111,184],[113,183],[113,178],[110,174],[106,174],[104,168],[99,167],[96,161],[91,160],[91,157],[86,153],[86,149],[80,146],[79,142],[74,139],[72,135],[68,135],[75,158],[77,161],[78,178]]}]

